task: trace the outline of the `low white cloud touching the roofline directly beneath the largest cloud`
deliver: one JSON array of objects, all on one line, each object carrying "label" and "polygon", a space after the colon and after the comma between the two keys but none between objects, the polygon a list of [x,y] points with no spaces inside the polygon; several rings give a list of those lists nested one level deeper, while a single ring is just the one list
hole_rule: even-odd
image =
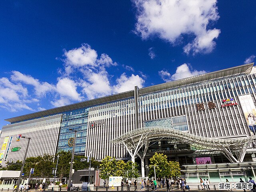
[{"label": "low white cloud touching the roofline directly beneath the largest cloud", "polygon": [[169,82],[172,80],[178,80],[178,79],[183,79],[183,78],[188,78],[192,76],[197,76],[201,74],[205,74],[206,71],[198,71],[198,70],[190,70],[188,65],[186,63],[180,65],[177,67],[176,72],[172,75],[166,70],[161,70],[158,72],[162,80],[165,82]]}]

